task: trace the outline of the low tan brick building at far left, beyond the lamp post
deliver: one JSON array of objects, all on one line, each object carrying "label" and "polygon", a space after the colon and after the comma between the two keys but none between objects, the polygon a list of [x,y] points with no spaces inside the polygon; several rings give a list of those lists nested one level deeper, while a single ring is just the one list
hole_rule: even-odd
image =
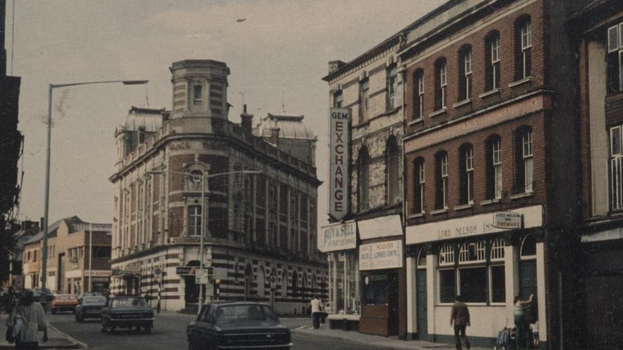
[{"label": "low tan brick building at far left, beyond the lamp post", "polygon": [[[59,294],[108,291],[111,232],[111,224],[84,222],[77,216],[50,225],[47,237],[47,288]],[[44,232],[40,231],[24,244],[24,288],[40,287],[43,235]],[[90,248],[93,252],[91,262]]]}]

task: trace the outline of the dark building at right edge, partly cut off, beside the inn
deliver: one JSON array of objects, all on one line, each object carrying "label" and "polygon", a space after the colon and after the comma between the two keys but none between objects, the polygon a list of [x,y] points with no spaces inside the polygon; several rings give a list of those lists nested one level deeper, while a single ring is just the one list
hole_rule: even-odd
[{"label": "dark building at right edge, partly cut off, beside the inn", "polygon": [[585,348],[617,349],[623,341],[623,3],[593,1],[568,28],[579,56],[583,207],[575,299],[585,320],[570,320],[568,328],[583,334]]}]

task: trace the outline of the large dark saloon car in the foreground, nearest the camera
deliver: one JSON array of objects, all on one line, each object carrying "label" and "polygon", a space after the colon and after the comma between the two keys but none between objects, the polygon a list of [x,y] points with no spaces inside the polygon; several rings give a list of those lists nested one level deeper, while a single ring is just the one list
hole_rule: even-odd
[{"label": "large dark saloon car in the foreground, nearest the camera", "polygon": [[289,349],[290,329],[262,303],[210,303],[186,327],[188,348]]}]

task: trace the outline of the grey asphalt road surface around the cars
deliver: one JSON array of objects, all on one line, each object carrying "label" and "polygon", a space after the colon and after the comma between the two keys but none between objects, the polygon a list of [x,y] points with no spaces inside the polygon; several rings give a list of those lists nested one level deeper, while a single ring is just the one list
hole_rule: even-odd
[{"label": "grey asphalt road surface around the cars", "polygon": [[[100,331],[100,321],[88,319],[83,323],[77,323],[74,315],[64,313],[60,315],[48,314],[49,323],[59,331],[72,338],[87,344],[89,348],[97,350],[120,350],[120,349],[186,349],[186,325],[193,321],[194,315],[178,313],[161,313],[156,315],[154,328],[151,334],[137,333],[134,330],[118,329],[114,334],[104,334]],[[310,326],[310,318],[282,318],[282,323],[292,328]],[[379,349],[361,344],[345,343],[341,339],[326,338],[323,329],[328,328],[323,324],[318,330],[318,336],[292,334],[292,349],[318,350],[318,349]]]}]

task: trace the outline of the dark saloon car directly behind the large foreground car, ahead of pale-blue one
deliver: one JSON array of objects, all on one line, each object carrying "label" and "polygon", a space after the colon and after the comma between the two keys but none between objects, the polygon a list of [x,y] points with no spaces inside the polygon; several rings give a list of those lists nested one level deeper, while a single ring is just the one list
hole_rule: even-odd
[{"label": "dark saloon car directly behind the large foreground car, ahead of pale-blue one", "polygon": [[136,328],[150,333],[154,326],[154,311],[141,296],[115,296],[102,308],[102,332],[113,333],[115,328]]}]

